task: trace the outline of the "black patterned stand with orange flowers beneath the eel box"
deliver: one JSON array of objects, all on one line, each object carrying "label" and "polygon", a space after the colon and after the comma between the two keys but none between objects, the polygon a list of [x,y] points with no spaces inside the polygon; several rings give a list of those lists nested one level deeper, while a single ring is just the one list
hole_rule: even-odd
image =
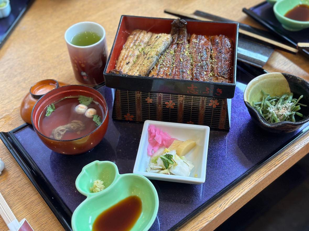
[{"label": "black patterned stand with orange flowers beneath the eel box", "polygon": [[230,127],[227,100],[217,97],[116,90],[114,107],[112,118],[118,120]]}]

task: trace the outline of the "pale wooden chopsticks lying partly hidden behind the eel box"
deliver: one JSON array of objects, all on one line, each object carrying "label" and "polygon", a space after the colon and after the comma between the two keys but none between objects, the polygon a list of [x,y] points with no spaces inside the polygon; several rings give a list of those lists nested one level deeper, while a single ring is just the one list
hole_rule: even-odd
[{"label": "pale wooden chopsticks lying partly hidden behind the eel box", "polygon": [[[186,17],[186,18],[192,18],[192,19],[195,19],[195,20],[205,21],[204,17],[197,16],[197,15],[194,15],[194,14],[186,14],[186,13],[183,13],[183,12],[180,12],[180,11],[177,11],[177,10],[166,9],[166,10],[164,10],[164,12],[167,13],[167,14],[172,14],[172,15],[178,16],[178,17],[182,16],[182,17]],[[239,33],[244,34],[244,35],[249,36],[249,37],[252,37],[253,39],[260,40],[260,41],[263,41],[265,43],[271,44],[275,47],[281,47],[282,49],[284,49],[286,51],[290,51],[290,52],[295,53],[295,54],[298,52],[297,48],[288,46],[286,44],[280,43],[280,42],[273,40],[273,39],[263,37],[259,34],[255,34],[253,32],[244,30],[242,28],[239,28]]]}]

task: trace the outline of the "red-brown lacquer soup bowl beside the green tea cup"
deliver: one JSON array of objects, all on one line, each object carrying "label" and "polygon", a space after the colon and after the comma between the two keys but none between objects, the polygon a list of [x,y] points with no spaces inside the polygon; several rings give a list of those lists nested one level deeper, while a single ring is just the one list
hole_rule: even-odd
[{"label": "red-brown lacquer soup bowl beside the green tea cup", "polygon": [[[104,112],[104,115],[101,118],[102,123],[92,132],[83,135],[77,139],[56,140],[45,136],[40,131],[39,119],[40,115],[43,112],[44,114],[42,115],[45,115],[46,107],[51,103],[57,102],[58,100],[61,100],[65,97],[76,95],[84,95],[87,97],[91,97],[94,101],[98,102],[102,106]],[[31,120],[34,130],[48,148],[61,154],[74,155],[89,151],[91,148],[99,144],[99,142],[103,139],[108,126],[108,108],[103,95],[99,91],[91,87],[81,85],[69,85],[59,87],[43,95],[33,107]]]}]

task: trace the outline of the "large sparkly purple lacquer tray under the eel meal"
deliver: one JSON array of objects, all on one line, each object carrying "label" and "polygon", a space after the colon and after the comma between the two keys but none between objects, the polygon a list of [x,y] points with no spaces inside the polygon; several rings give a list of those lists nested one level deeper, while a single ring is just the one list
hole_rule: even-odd
[{"label": "large sparkly purple lacquer tray under the eel meal", "polygon": [[[243,91],[248,81],[263,73],[262,69],[238,63],[231,129],[229,132],[210,131],[204,184],[151,181],[159,195],[159,212],[150,230],[180,227],[307,131],[309,124],[293,133],[272,134],[253,123],[243,103]],[[98,90],[107,99],[111,117],[113,90],[105,86]],[[110,160],[116,163],[121,174],[132,172],[142,127],[142,123],[110,118],[101,143],[77,156],[61,155],[46,148],[27,124],[11,132],[1,132],[0,137],[64,228],[70,230],[72,213],[85,199],[75,188],[75,179],[83,166],[94,160]]]}]

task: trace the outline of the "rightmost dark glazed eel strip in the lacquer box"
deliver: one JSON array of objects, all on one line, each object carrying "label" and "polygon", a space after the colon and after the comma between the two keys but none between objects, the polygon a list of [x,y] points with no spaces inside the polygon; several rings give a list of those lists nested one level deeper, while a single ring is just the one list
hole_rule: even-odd
[{"label": "rightmost dark glazed eel strip in the lacquer box", "polygon": [[232,40],[222,34],[211,36],[213,82],[231,83]]}]

